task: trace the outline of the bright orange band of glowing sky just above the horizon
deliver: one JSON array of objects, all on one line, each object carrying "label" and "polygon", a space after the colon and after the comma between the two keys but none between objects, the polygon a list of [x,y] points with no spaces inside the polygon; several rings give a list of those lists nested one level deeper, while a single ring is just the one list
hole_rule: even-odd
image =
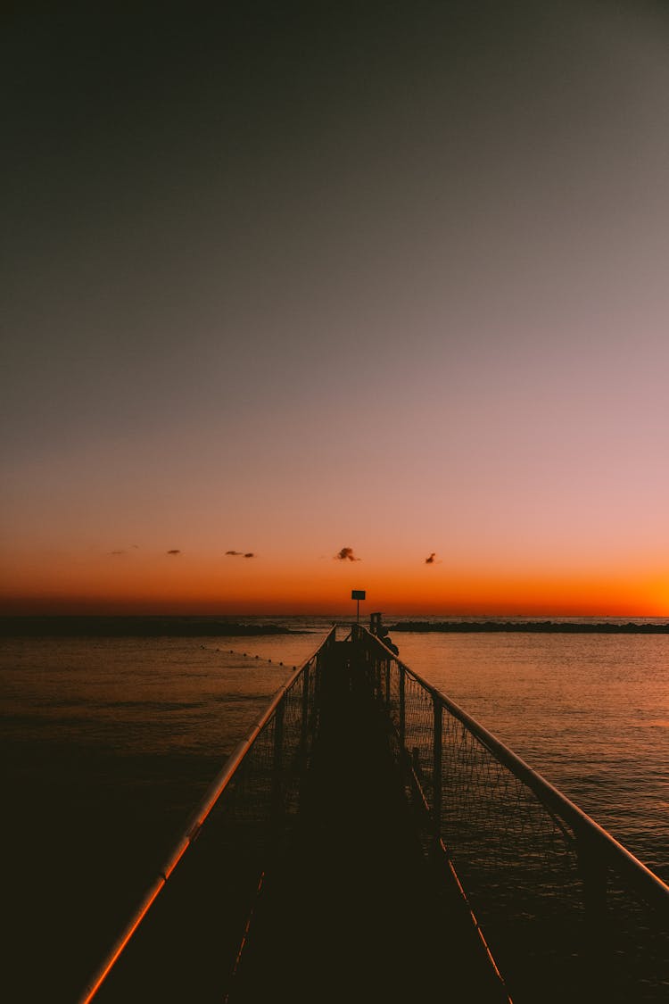
[{"label": "bright orange band of glowing sky just above the horizon", "polygon": [[[277,562],[227,564],[165,557],[132,570],[73,567],[5,590],[4,613],[316,614],[350,616],[351,589],[363,588],[361,613],[443,616],[664,616],[669,587],[657,574],[523,574],[480,569],[321,561],[287,573]],[[231,566],[234,567],[231,569]],[[233,574],[234,573],[234,574]]]}]

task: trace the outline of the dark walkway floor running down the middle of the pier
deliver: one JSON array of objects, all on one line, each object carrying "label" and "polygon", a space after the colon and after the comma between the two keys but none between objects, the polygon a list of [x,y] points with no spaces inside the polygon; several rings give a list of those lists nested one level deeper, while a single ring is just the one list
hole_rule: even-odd
[{"label": "dark walkway floor running down the middle of the pier", "polygon": [[337,643],[327,667],[296,838],[267,875],[230,1004],[506,1002],[459,894],[433,881],[353,649]]}]

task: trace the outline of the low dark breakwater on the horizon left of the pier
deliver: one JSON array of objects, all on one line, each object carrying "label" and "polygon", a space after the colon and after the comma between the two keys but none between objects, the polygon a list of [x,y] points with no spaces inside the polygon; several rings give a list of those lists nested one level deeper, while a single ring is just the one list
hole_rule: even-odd
[{"label": "low dark breakwater on the horizon left of the pier", "polygon": [[212,638],[300,635],[281,624],[240,623],[212,617],[6,616],[0,637],[16,638]]}]

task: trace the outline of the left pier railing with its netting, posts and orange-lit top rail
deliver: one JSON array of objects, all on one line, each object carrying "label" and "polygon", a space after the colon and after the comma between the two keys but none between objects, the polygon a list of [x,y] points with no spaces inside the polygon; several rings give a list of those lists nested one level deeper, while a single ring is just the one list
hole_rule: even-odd
[{"label": "left pier railing with its netting, posts and orange-lit top rail", "polygon": [[[297,815],[335,634],[229,757],[79,1004],[191,1000],[195,983],[199,993],[209,990],[206,999],[225,999],[265,872]],[[188,967],[179,963],[185,957]]]}]

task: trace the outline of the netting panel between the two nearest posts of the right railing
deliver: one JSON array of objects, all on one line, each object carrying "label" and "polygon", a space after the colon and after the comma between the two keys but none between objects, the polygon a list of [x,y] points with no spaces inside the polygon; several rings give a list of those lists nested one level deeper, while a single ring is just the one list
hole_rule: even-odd
[{"label": "netting panel between the two nearest posts of the right railing", "polygon": [[441,834],[498,965],[512,987],[578,986],[574,834],[461,722],[446,715],[443,733]]}]

